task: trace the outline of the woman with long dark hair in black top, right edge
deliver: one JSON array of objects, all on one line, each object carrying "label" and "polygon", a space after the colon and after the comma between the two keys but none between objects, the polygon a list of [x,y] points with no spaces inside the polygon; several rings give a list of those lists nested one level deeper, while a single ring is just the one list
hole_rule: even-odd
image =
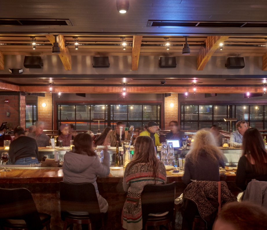
[{"label": "woman with long dark hair in black top, right edge", "polygon": [[248,129],[243,136],[243,154],[236,172],[236,185],[246,190],[252,179],[267,181],[267,153],[264,141],[256,128]]}]

